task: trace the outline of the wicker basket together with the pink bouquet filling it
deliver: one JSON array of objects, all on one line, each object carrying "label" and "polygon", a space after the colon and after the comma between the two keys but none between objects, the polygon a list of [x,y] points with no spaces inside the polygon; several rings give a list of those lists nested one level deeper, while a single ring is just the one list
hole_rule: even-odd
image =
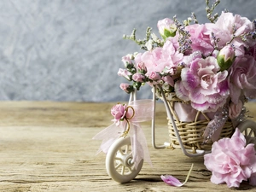
[{"label": "wicker basket together with the pink bouquet filling it", "polygon": [[[166,18],[157,23],[160,37],[148,27],[146,38],[131,39],[144,49],[125,55],[119,76],[127,93],[143,84],[156,88],[168,101],[185,148],[209,149],[221,137],[231,137],[245,119],[247,99],[256,98],[256,20],[222,12],[220,1],[207,3],[209,23],[199,24],[195,14],[180,22]],[[169,122],[171,147],[179,142]]]}]

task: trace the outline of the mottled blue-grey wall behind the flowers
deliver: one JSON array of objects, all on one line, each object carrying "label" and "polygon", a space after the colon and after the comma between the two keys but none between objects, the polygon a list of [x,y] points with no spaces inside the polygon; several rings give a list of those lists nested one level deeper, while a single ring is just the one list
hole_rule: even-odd
[{"label": "mottled blue-grey wall behind the flowers", "polygon": [[[253,0],[223,0],[217,10],[225,8],[256,17]],[[117,72],[139,49],[123,34],[135,27],[144,38],[147,26],[157,32],[158,20],[192,11],[206,22],[204,9],[205,0],[1,0],[0,100],[126,100]]]}]

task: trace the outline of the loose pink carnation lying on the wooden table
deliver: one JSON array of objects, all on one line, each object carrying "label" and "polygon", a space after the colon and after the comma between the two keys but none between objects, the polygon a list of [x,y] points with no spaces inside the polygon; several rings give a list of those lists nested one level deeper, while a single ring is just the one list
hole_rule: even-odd
[{"label": "loose pink carnation lying on the wooden table", "polygon": [[246,146],[246,139],[236,128],[231,138],[213,143],[212,153],[205,154],[205,166],[212,172],[212,183],[227,183],[228,187],[239,187],[242,181],[252,177],[255,184],[256,155],[254,144]]}]

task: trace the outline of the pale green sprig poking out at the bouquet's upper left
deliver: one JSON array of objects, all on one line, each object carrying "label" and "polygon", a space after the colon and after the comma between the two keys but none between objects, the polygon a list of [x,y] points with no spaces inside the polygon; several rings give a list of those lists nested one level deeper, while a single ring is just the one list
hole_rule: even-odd
[{"label": "pale green sprig poking out at the bouquet's upper left", "polygon": [[124,35],[123,38],[130,39],[134,41],[136,44],[140,45],[141,49],[151,50],[155,47],[162,47],[164,45],[164,41],[152,32],[152,28],[148,27],[146,30],[146,38],[143,40],[136,38],[136,29],[133,29],[130,36]]}]

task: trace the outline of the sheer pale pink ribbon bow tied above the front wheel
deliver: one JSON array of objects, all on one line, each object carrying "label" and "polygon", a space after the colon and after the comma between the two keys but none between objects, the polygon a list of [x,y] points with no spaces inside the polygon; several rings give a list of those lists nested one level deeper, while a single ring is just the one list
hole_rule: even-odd
[{"label": "sheer pale pink ribbon bow tied above the front wheel", "polygon": [[[139,123],[153,119],[154,101],[149,99],[136,100],[131,102],[128,107],[129,106],[133,108],[135,112],[133,117],[129,119],[130,131],[128,134],[130,134],[131,137],[132,156],[135,169],[137,169],[141,160],[145,160],[149,165],[152,165],[148,153],[147,140]],[[126,129],[126,125],[127,122],[125,121],[121,121],[119,125],[113,123],[101,132],[97,133],[93,139],[102,140],[102,144],[97,154],[101,151],[107,154],[108,148],[110,148],[113,142],[119,137],[122,137],[122,134]]]}]

